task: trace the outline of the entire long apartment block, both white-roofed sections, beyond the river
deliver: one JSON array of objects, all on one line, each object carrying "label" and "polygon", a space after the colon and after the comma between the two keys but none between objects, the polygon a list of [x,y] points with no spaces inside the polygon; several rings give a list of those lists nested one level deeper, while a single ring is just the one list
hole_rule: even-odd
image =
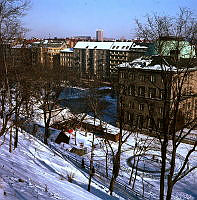
[{"label": "entire long apartment block, both white-roofed sections, beyond the river", "polygon": [[78,42],[74,47],[75,66],[84,77],[89,74],[109,81],[117,64],[140,57],[146,49],[133,42]]}]

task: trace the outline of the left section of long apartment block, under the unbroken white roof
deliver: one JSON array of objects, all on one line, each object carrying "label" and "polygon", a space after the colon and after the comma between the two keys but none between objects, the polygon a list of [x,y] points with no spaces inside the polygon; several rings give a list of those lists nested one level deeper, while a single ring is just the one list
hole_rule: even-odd
[{"label": "left section of long apartment block, under the unbroken white roof", "polygon": [[74,47],[75,66],[82,77],[109,78],[109,49],[113,42],[78,42]]}]

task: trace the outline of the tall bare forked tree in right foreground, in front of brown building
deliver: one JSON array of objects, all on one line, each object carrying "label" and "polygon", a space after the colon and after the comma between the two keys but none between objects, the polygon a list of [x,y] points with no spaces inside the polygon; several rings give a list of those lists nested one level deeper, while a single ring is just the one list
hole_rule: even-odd
[{"label": "tall bare forked tree in right foreground, in front of brown building", "polygon": [[[196,91],[193,88],[190,95],[185,94],[188,80],[192,74],[195,75],[196,69],[194,63],[195,53],[192,42],[196,41],[197,21],[195,16],[188,9],[180,9],[176,17],[147,16],[146,23],[142,24],[136,20],[137,36],[154,42],[155,53],[159,55],[159,64],[161,66],[161,78],[163,87],[158,88],[162,91],[163,98],[163,117],[161,119],[162,127],[158,126],[157,119],[152,116],[155,126],[155,133],[160,141],[160,151],[162,157],[162,167],[160,174],[160,199],[165,198],[164,183],[166,171],[166,159],[169,145],[172,143],[172,155],[170,159],[170,172],[167,179],[166,199],[171,199],[173,186],[181,178],[185,177],[189,172],[194,170],[196,166],[186,169],[189,157],[196,150],[197,141],[193,142],[191,149],[185,156],[182,167],[175,175],[175,161],[177,157],[177,149],[191,131],[197,127],[196,116],[189,116],[183,109],[183,105],[187,105],[189,99],[196,99]],[[165,38],[173,38],[173,42],[165,40]],[[188,43],[190,41],[190,43]],[[169,48],[169,45],[171,47]],[[187,49],[187,50],[186,50]],[[182,55],[181,55],[182,54]],[[166,65],[169,68],[166,68]],[[170,70],[169,70],[170,69]],[[190,79],[191,81],[191,79]],[[185,102],[185,103],[184,103]],[[186,115],[183,115],[182,113]],[[191,112],[190,112],[191,113]],[[178,125],[180,118],[184,122]],[[185,128],[189,130],[185,132]]]}]

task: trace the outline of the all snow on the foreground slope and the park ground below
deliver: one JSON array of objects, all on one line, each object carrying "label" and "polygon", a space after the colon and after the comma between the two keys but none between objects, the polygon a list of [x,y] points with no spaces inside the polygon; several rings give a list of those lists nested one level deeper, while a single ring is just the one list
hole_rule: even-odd
[{"label": "all snow on the foreground slope and the park ground below", "polygon": [[[35,105],[35,109],[38,113],[39,105]],[[61,115],[69,117],[72,115],[68,109],[65,109]],[[57,116],[55,120],[61,118]],[[82,114],[81,114],[82,116]],[[60,117],[60,118],[59,118]],[[42,136],[44,130],[43,118],[35,119],[39,124],[38,135]],[[94,124],[94,118],[87,115],[84,122]],[[95,120],[96,125],[100,125],[100,120]],[[119,133],[119,128],[107,123],[102,123],[103,127],[107,128],[107,132],[111,134]],[[31,129],[30,129],[31,130]],[[188,130],[184,130],[187,132]],[[143,142],[149,144],[147,154],[149,155],[148,162],[146,163],[147,171],[156,171],[160,163],[150,163],[152,155],[156,155],[156,159],[160,160],[160,145],[159,142],[152,137],[131,133],[128,141],[123,145],[123,152],[121,154],[121,170],[117,179],[119,187],[115,189],[114,196],[111,197],[108,194],[109,178],[105,177],[105,159],[106,150],[109,151],[108,155],[108,168],[109,176],[112,173],[112,152],[111,149],[105,145],[104,139],[95,136],[94,142],[94,166],[96,169],[96,175],[92,181],[91,193],[87,192],[88,184],[88,169],[82,170],[80,167],[81,159],[85,159],[85,163],[89,166],[90,152],[92,145],[93,133],[86,132],[83,129],[75,129],[73,133],[67,135],[70,136],[70,143],[60,145],[55,144],[53,141],[57,137],[60,131],[51,129],[51,136],[49,138],[49,148],[45,146],[41,141],[29,135],[28,133],[19,133],[19,145],[16,150],[9,153],[9,135],[5,137],[5,142],[2,144],[4,138],[0,137],[0,199],[2,200],[23,200],[23,199],[47,199],[47,200],[66,200],[66,199],[140,199],[135,196],[135,192],[139,194],[143,193],[144,181],[144,195],[146,198],[156,200],[159,199],[159,173],[138,172],[135,192],[131,190],[131,186],[128,185],[130,174],[132,171],[131,157],[134,155],[134,148],[136,142],[143,147]],[[127,131],[123,131],[125,136],[129,134]],[[197,131],[192,131],[192,137],[197,135]],[[76,138],[75,138],[76,137]],[[190,136],[188,136],[190,137]],[[116,152],[118,144],[116,142],[109,142],[111,147]],[[78,149],[85,149],[86,154],[78,156],[69,152],[73,147]],[[180,144],[177,151],[177,159],[175,165],[175,173],[180,169],[183,159],[187,152],[191,149],[189,144]],[[53,149],[53,150],[52,150]],[[168,156],[171,156],[172,144],[169,143]],[[59,153],[58,153],[59,152]],[[71,158],[71,159],[70,159]],[[79,166],[74,164],[79,163]],[[131,163],[129,163],[129,159]],[[146,159],[145,159],[146,160]],[[145,161],[146,162],[146,161]],[[141,168],[143,168],[143,161],[140,162]],[[168,163],[169,166],[169,163]],[[197,166],[197,151],[195,151],[190,159],[186,168]],[[68,182],[67,175],[72,175],[73,182]],[[167,173],[166,173],[167,174]],[[166,184],[166,183],[165,183]],[[165,185],[166,186],[166,185]],[[122,189],[122,188],[127,189]],[[119,188],[119,189],[118,189]],[[197,170],[194,170],[189,175],[184,177],[181,181],[175,184],[172,200],[195,200],[197,199]],[[142,198],[143,199],[143,198]]]}]

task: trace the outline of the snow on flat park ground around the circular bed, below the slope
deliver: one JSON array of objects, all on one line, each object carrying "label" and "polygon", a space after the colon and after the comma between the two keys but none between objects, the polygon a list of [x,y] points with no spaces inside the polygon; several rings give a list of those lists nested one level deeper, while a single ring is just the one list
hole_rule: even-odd
[{"label": "snow on flat park ground around the circular bed, below the slope", "polygon": [[[118,128],[110,126],[112,132],[118,131]],[[196,131],[197,132],[197,131]],[[125,131],[124,134],[127,134]],[[80,148],[80,143],[83,143],[83,148],[87,148],[87,154],[83,157],[85,158],[85,162],[89,162],[90,159],[90,151],[91,151],[91,141],[92,141],[92,133],[86,133],[82,130],[76,130],[76,134],[71,135],[71,141],[70,145],[75,145],[75,135],[76,135],[76,146]],[[148,197],[149,199],[159,199],[159,172],[157,170],[159,169],[160,163],[160,145],[159,142],[151,138],[149,136],[145,136],[143,134],[135,134],[132,133],[131,137],[128,139],[127,143],[123,145],[123,153],[121,155],[121,171],[120,175],[118,177],[118,181],[122,182],[123,185],[126,187],[129,187],[128,182],[130,178],[130,173],[132,171],[132,168],[127,163],[127,160],[131,158],[134,151],[134,146],[136,143],[136,140],[138,142],[140,141],[147,141],[150,145],[150,148],[147,152],[150,158],[152,158],[152,155],[155,155],[155,164],[147,162],[147,172],[138,171],[137,180],[135,184],[135,191],[142,194],[143,192],[143,185],[142,185],[142,177],[145,182],[145,197]],[[96,137],[95,138],[95,150],[94,150],[94,166],[96,167],[97,172],[100,171],[100,173],[105,174],[105,152],[106,147],[104,145],[103,139]],[[112,148],[114,151],[117,150],[117,143],[111,142]],[[141,145],[143,146],[143,142],[141,142]],[[67,153],[65,149],[69,149],[70,146],[61,146],[61,152]],[[191,145],[189,144],[180,144],[178,151],[177,151],[177,159],[176,159],[176,166],[175,166],[175,174],[178,172],[180,167],[183,164],[183,159],[186,156],[187,152],[191,149]],[[112,170],[112,157],[109,150],[109,174],[111,174]],[[171,156],[171,144],[169,144],[169,153],[167,156],[167,159],[170,159]],[[189,165],[186,168],[190,168],[192,166],[197,166],[197,152],[194,152],[189,160]],[[76,157],[77,159],[77,157]],[[150,159],[149,159],[150,161]],[[141,168],[143,169],[143,161],[140,163]],[[169,162],[167,163],[167,166],[169,167]],[[150,170],[150,173],[148,172]],[[168,170],[166,171],[166,175],[168,173]],[[177,184],[175,184],[172,199],[190,199],[195,200],[197,198],[197,170],[194,170],[191,174],[184,177],[182,180],[180,180]],[[167,179],[166,179],[167,181]]]}]

